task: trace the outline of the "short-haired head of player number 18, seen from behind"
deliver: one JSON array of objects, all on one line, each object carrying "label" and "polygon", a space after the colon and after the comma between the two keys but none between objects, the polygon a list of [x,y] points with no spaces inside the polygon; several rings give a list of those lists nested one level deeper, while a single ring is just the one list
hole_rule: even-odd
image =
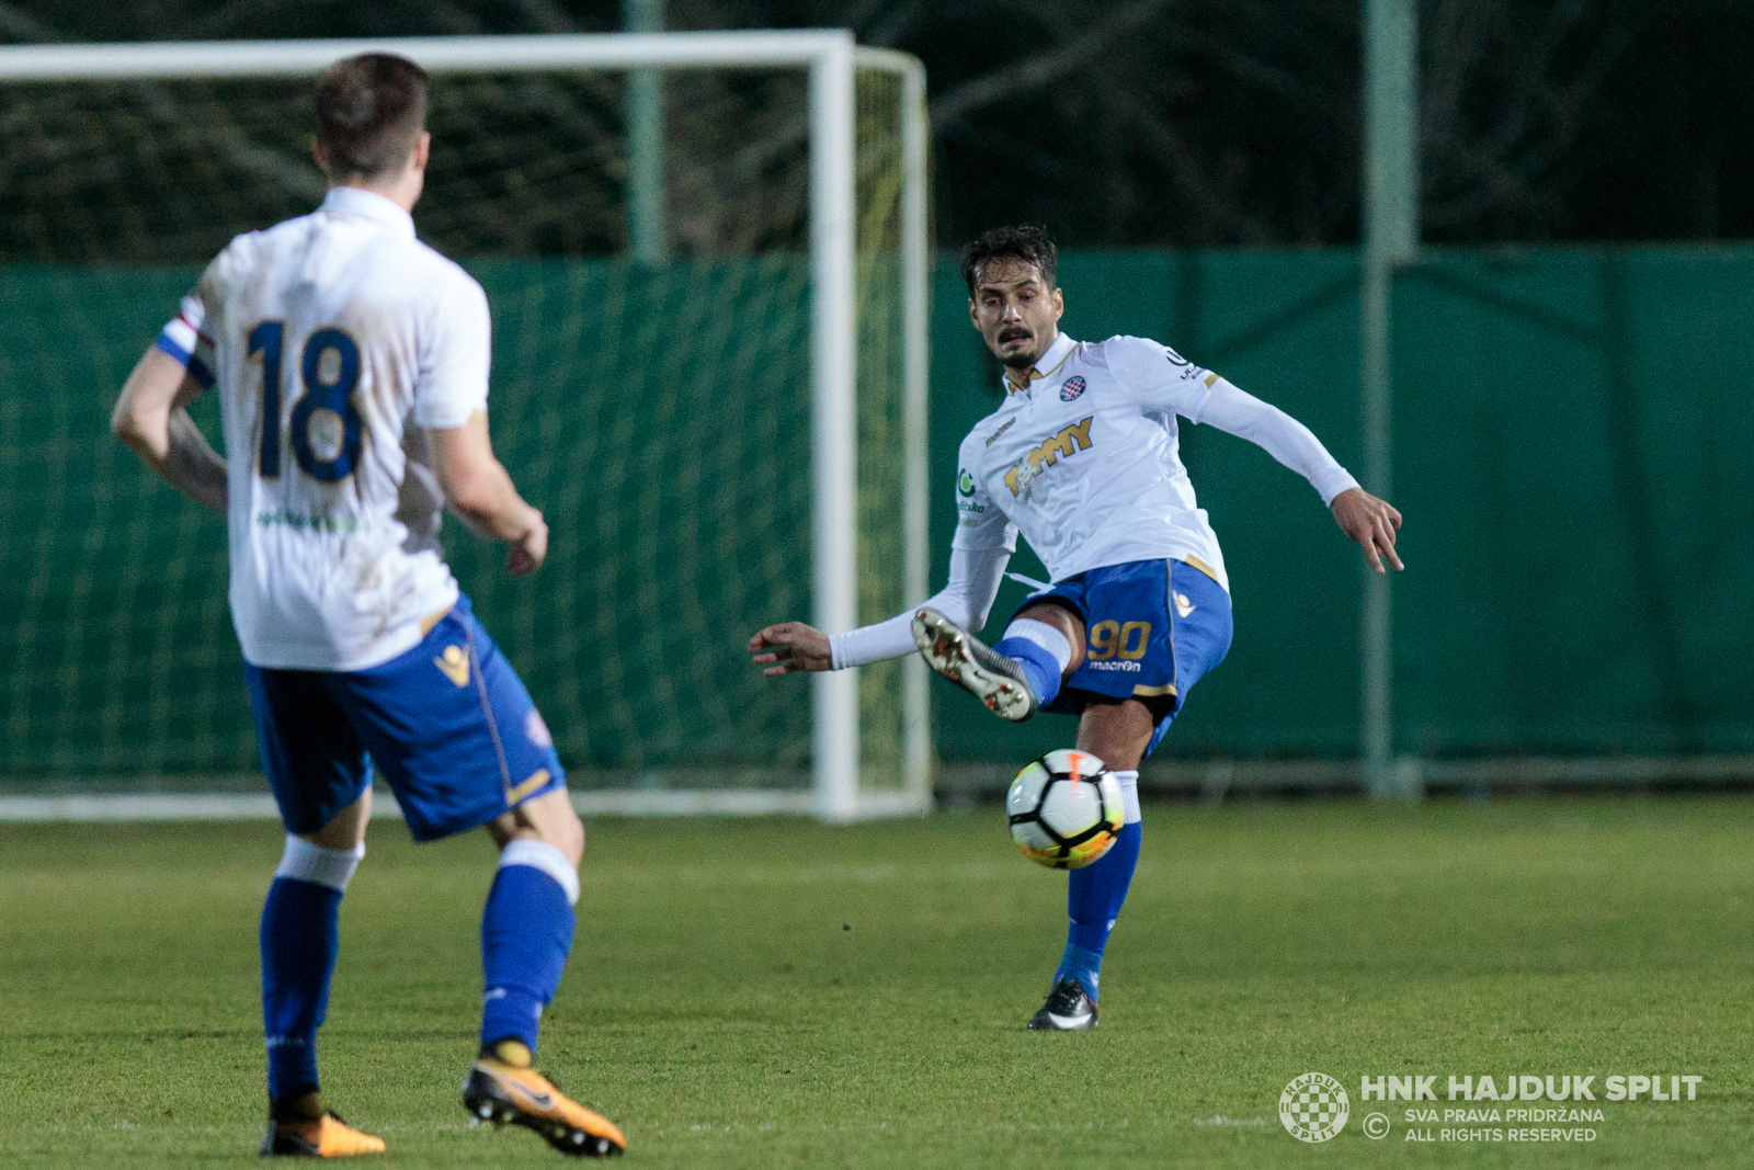
[{"label": "short-haired head of player number 18, seen from behind", "polygon": [[317,140],[332,179],[407,165],[426,128],[426,70],[403,56],[361,53],[317,74]]}]

